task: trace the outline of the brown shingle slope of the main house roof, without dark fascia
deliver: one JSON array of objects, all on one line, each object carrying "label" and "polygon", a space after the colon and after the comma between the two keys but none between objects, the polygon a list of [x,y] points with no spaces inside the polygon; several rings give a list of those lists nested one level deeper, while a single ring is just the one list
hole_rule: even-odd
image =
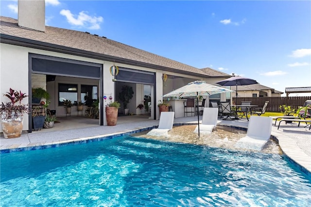
[{"label": "brown shingle slope of the main house roof, without dark fascia", "polygon": [[[188,72],[199,75],[200,77],[210,76],[206,72],[187,64],[182,64],[171,59],[134,48],[105,37],[96,36],[86,32],[49,27],[46,26],[45,32],[39,32],[17,25],[17,19],[0,16],[0,33],[29,40],[35,40],[39,43],[48,43],[56,46],[79,49],[97,53],[99,55],[116,57],[128,61],[136,61],[168,69],[174,72]],[[2,41],[1,41],[2,42]],[[161,68],[163,69],[163,68]]]}]

